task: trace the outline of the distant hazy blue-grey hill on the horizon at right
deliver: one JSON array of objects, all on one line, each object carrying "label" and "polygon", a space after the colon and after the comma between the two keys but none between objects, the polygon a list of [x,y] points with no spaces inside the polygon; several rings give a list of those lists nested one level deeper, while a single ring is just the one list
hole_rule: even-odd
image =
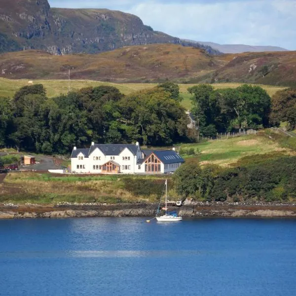
[{"label": "distant hazy blue-grey hill on the horizon at right", "polygon": [[[190,40],[191,41],[191,40]],[[191,41],[193,42],[193,41]],[[223,53],[262,52],[262,51],[288,51],[279,46],[254,46],[246,44],[219,44],[214,42],[197,41],[199,44],[208,45]]]}]

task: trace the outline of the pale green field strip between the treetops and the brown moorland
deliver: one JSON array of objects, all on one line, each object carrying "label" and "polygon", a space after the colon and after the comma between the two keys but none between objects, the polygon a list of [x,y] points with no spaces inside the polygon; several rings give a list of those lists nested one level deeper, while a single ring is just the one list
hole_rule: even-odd
[{"label": "pale green field strip between the treetops and the brown moorland", "polygon": [[[28,79],[6,79],[0,78],[0,97],[12,97],[14,93],[21,87],[28,84]],[[68,80],[34,80],[34,84],[41,83],[44,85],[47,91],[48,97],[55,97],[60,94],[65,94],[69,90]],[[215,89],[223,89],[227,87],[235,88],[240,86],[242,83],[215,83],[212,84]],[[95,87],[100,85],[111,85],[117,87],[123,94],[128,95],[132,92],[151,88],[156,86],[156,83],[112,83],[102,82],[95,80],[71,80],[70,89],[79,90],[83,87]],[[187,88],[196,84],[179,84],[181,96],[184,98],[182,105],[186,109],[191,109],[191,95],[187,92]],[[270,86],[270,85],[259,85],[264,88],[267,93],[272,96],[278,90],[284,89],[285,87]]]}]

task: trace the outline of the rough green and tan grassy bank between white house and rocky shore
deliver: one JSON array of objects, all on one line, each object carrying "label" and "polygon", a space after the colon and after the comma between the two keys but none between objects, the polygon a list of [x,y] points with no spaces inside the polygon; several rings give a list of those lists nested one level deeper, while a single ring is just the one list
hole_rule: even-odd
[{"label": "rough green and tan grassy bank between white house and rocky shore", "polygon": [[[171,179],[171,176],[81,176],[12,172],[0,184],[0,203],[157,202],[164,178]],[[132,184],[134,182],[136,185]],[[175,195],[174,191],[170,191],[170,196]]]}]

